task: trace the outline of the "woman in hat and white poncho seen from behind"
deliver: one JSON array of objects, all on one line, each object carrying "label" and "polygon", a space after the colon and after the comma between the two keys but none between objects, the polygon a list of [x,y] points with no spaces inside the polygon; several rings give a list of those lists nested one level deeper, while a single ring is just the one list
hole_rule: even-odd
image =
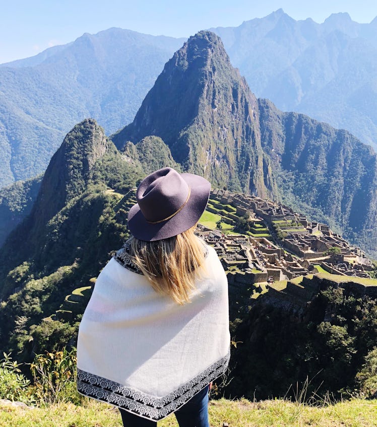
[{"label": "woman in hat and white poncho seen from behind", "polygon": [[97,278],[78,340],[78,390],[118,406],[123,424],[208,427],[208,387],[229,361],[227,280],[194,235],[210,183],[172,168],[147,176],[132,237]]}]

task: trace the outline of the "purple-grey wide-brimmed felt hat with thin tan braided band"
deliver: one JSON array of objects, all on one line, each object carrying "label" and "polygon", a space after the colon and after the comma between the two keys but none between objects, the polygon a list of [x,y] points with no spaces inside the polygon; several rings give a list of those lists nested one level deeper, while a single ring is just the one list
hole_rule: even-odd
[{"label": "purple-grey wide-brimmed felt hat with thin tan braided band", "polygon": [[159,169],[140,183],[128,227],[139,240],[167,239],[189,230],[206,209],[211,184],[203,177]]}]

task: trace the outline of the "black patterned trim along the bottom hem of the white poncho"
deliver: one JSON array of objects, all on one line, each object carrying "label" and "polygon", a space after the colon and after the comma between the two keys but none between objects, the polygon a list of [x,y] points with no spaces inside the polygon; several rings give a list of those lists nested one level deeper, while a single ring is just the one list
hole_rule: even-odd
[{"label": "black patterned trim along the bottom hem of the white poncho", "polygon": [[88,397],[110,403],[144,418],[158,421],[174,412],[211,381],[224,374],[229,363],[228,354],[191,381],[167,396],[156,398],[131,387],[125,387],[89,372],[77,370],[77,389]]}]

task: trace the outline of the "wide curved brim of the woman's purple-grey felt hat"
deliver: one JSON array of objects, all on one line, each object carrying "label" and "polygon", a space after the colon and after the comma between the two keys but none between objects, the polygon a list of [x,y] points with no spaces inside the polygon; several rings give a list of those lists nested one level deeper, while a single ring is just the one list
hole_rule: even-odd
[{"label": "wide curved brim of the woman's purple-grey felt hat", "polygon": [[199,175],[183,173],[180,176],[191,188],[190,198],[183,208],[165,222],[150,224],[144,218],[139,205],[134,204],[128,215],[128,227],[134,237],[147,242],[167,239],[177,236],[197,224],[206,209],[211,184]]}]

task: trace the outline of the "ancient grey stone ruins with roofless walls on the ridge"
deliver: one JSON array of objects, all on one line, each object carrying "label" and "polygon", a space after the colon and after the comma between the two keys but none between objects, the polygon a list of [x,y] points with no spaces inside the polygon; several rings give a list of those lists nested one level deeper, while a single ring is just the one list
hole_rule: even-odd
[{"label": "ancient grey stone ruins with roofless walls on the ridge", "polygon": [[[215,248],[230,281],[258,283],[288,280],[318,272],[317,265],[335,274],[370,277],[367,271],[373,266],[361,249],[350,246],[325,224],[309,222],[285,205],[254,195],[216,189],[212,190],[211,198],[233,206],[238,217],[247,215],[255,222],[262,222],[271,234],[271,238],[267,239],[224,235],[221,231],[203,226],[198,228],[197,234]],[[273,221],[299,224],[299,231],[288,233],[277,245],[274,243],[278,239],[272,227]],[[333,257],[327,255],[326,251],[331,247],[338,247],[340,253]]]}]

